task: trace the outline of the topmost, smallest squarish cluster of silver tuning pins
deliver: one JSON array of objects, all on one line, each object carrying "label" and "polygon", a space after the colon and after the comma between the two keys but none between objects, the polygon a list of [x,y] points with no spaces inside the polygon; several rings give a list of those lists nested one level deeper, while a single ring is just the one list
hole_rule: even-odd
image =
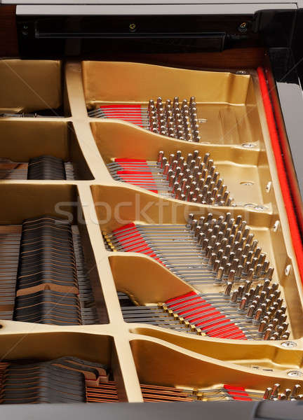
[{"label": "topmost, smallest squarish cluster of silver tuning pins", "polygon": [[184,99],[182,104],[175,97],[163,104],[161,97],[148,104],[149,129],[163,136],[174,137],[186,141],[201,141],[199,135],[196,99],[191,97],[189,103]]}]

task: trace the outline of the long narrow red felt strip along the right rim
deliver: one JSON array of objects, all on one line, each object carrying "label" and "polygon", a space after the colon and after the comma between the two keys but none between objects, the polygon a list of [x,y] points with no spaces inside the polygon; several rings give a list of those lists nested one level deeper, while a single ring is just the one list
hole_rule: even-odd
[{"label": "long narrow red felt strip along the right rim", "polygon": [[263,104],[264,104],[264,110],[265,110],[265,114],[267,118],[267,125],[269,127],[271,147],[274,151],[274,157],[276,160],[276,168],[278,172],[278,179],[280,181],[285,209],[288,215],[288,224],[290,227],[290,235],[292,237],[292,246],[295,250],[295,255],[297,257],[297,265],[299,267],[299,274],[301,276],[301,281],[303,281],[303,245],[302,245],[301,235],[299,232],[299,224],[298,224],[297,216],[295,213],[294,202],[292,201],[290,181],[288,179],[288,174],[285,169],[285,162],[283,159],[283,150],[281,147],[278,131],[276,128],[276,120],[274,118],[274,112],[271,107],[271,98],[270,98],[270,93],[267,86],[267,80],[264,76],[264,71],[261,67],[258,67],[257,73],[259,76],[260,89],[261,89],[261,94],[262,94],[262,99],[263,99]]}]

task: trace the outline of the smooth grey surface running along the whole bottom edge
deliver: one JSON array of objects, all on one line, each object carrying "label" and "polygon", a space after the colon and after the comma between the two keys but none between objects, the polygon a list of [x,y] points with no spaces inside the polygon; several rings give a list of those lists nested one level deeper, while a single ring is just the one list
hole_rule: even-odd
[{"label": "smooth grey surface running along the whole bottom edge", "polygon": [[139,402],[2,405],[0,420],[302,420],[302,402]]}]

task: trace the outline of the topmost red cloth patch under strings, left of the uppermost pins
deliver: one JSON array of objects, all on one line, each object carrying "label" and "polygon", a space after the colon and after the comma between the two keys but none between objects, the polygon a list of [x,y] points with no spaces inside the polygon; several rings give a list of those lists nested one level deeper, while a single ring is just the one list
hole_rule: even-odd
[{"label": "topmost red cloth patch under strings, left of the uppermost pins", "polygon": [[[100,106],[106,118],[119,118],[143,127],[142,109],[138,104],[112,104]],[[111,111],[112,110],[112,111]]]}]

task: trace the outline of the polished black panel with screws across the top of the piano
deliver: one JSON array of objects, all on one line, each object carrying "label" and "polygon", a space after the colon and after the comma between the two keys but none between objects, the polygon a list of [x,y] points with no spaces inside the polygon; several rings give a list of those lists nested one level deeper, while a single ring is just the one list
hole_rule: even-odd
[{"label": "polished black panel with screws across the top of the piano", "polygon": [[22,57],[102,57],[111,52],[203,52],[288,47],[296,10],[207,15],[17,15]]}]

